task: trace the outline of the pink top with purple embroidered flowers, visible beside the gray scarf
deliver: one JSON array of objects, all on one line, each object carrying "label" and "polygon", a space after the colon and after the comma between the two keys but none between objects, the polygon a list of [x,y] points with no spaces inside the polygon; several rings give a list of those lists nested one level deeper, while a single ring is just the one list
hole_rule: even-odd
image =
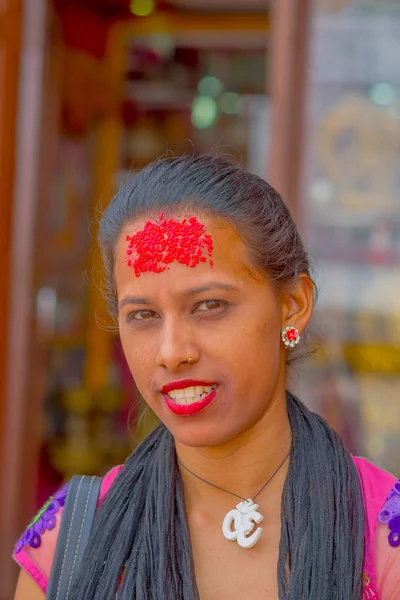
[{"label": "pink top with purple embroidered flowers, visible beside the gray scarf", "polygon": [[[354,458],[360,475],[366,507],[365,560],[362,600],[399,600],[400,598],[400,482],[364,458]],[[104,477],[99,504],[122,469],[115,467]],[[56,496],[57,497],[57,496]],[[64,500],[63,500],[64,498]],[[57,512],[41,522],[36,541],[26,533],[13,558],[46,592],[60,527],[64,496],[58,495]],[[54,503],[53,503],[54,508]],[[51,511],[50,511],[51,512]],[[45,511],[40,511],[46,516]],[[47,514],[48,517],[48,514]],[[35,519],[34,519],[35,521]],[[32,522],[33,523],[33,522]],[[27,532],[32,528],[32,523]],[[34,543],[37,547],[32,547]]]}]

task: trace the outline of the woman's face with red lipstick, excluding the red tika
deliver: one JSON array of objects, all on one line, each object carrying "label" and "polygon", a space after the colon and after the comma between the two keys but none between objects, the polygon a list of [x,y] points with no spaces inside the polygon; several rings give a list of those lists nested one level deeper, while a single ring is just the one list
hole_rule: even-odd
[{"label": "woman's face with red lipstick, excluding the red tika", "polygon": [[300,327],[287,321],[289,303],[255,276],[233,227],[197,219],[212,237],[213,266],[173,262],[136,276],[126,239],[143,229],[137,222],[119,238],[115,278],[122,346],[140,393],[178,441],[203,447],[265,415],[285,388],[281,329]]}]

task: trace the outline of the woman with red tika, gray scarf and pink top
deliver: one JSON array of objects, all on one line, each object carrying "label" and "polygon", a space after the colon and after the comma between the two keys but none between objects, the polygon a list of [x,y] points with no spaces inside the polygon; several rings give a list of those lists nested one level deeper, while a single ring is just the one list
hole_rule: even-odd
[{"label": "woman with red tika, gray scarf and pink top", "polygon": [[[162,425],[104,479],[69,598],[398,599],[399,484],[286,392],[314,286],[277,192],[221,158],[161,160],[117,193],[100,245]],[[56,526],[17,546],[16,600],[43,598],[57,498]]]}]

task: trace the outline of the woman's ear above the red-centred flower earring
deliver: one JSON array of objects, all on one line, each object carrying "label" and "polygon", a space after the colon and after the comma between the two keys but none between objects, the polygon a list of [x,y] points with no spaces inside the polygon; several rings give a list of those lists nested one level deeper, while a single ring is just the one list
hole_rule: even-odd
[{"label": "woman's ear above the red-centred flower earring", "polygon": [[300,334],[307,327],[314,305],[314,286],[306,273],[301,273],[295,285],[281,292],[282,328],[292,325]]}]

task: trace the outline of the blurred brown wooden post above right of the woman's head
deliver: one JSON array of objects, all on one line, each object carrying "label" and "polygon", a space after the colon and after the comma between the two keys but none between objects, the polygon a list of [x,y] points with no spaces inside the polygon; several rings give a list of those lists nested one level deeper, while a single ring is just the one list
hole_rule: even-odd
[{"label": "blurred brown wooden post above right of the woman's head", "polygon": [[269,179],[302,224],[311,0],[279,0],[272,12]]}]

